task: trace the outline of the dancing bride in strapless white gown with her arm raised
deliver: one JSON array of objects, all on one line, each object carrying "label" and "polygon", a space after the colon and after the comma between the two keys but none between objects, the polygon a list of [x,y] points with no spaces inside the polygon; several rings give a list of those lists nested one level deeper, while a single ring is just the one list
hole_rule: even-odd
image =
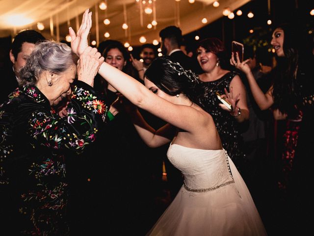
[{"label": "dancing bride in strapless white gown with her arm raised", "polygon": [[[70,35],[79,42],[72,45],[78,54],[84,48],[91,50],[86,48],[86,32],[76,35],[70,30]],[[136,130],[148,146],[171,142],[168,158],[184,176],[178,195],[147,235],[266,235],[243,179],[222,148],[213,119],[193,103],[198,81],[191,71],[169,57],[160,57],[146,70],[145,86],[105,62],[99,74],[136,107],[168,122],[154,130],[137,109],[130,111]],[[228,95],[235,107],[232,93]]]}]

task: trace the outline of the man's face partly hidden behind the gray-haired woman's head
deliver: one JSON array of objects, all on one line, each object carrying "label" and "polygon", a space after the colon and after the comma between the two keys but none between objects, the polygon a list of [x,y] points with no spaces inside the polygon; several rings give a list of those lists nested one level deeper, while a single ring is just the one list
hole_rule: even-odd
[{"label": "man's face partly hidden behind the gray-haired woman's head", "polygon": [[17,76],[19,76],[20,69],[25,66],[26,59],[29,57],[34,47],[35,44],[24,42],[22,44],[21,52],[19,52],[17,58],[15,58],[12,51],[10,51],[10,59],[13,63],[14,72]]}]

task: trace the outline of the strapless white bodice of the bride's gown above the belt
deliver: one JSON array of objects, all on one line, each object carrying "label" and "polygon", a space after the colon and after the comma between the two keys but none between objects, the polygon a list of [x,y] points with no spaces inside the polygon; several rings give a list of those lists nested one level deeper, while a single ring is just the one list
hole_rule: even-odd
[{"label": "strapless white bodice of the bride's gown above the belt", "polygon": [[208,189],[233,180],[225,150],[203,150],[172,144],[167,156],[182,172],[188,188]]}]

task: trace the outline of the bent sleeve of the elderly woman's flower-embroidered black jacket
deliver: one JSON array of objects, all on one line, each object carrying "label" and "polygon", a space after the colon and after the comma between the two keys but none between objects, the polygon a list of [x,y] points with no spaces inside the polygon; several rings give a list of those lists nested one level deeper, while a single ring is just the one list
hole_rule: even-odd
[{"label": "bent sleeve of the elderly woman's flower-embroidered black jacket", "polygon": [[53,110],[32,112],[27,133],[36,140],[33,145],[82,152],[95,141],[99,126],[105,122],[105,101],[95,94],[92,87],[78,81],[67,107],[67,117],[60,118]]}]

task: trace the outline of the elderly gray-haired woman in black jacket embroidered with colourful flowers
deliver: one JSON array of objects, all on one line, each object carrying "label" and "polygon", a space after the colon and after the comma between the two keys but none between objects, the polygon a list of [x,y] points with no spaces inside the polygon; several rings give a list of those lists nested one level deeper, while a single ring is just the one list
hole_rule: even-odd
[{"label": "elderly gray-haired woman in black jacket embroidered with colourful flowers", "polygon": [[[73,45],[88,33],[90,18],[85,11]],[[69,235],[65,153],[94,142],[108,117],[93,89],[104,58],[91,47],[79,59],[75,53],[63,43],[37,44],[20,87],[0,105],[1,235]],[[59,116],[54,108],[67,96],[66,116]]]}]

